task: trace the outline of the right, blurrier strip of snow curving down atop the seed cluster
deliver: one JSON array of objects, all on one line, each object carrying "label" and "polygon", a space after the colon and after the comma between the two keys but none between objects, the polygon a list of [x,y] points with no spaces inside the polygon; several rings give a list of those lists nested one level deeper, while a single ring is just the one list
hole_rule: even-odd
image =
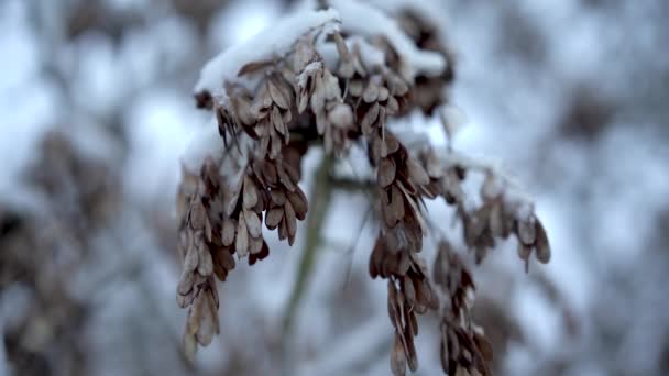
[{"label": "right, blurrier strip of snow curving down atop the seed cluster", "polygon": [[385,36],[406,65],[402,76],[413,81],[416,75],[438,76],[446,69],[446,60],[435,52],[421,51],[399,29],[397,22],[379,9],[354,0],[331,0],[330,5],[341,14],[342,29],[364,36]]}]

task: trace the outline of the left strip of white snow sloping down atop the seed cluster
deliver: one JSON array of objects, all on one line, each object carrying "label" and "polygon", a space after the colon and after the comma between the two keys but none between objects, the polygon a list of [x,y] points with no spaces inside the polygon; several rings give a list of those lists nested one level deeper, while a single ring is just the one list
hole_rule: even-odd
[{"label": "left strip of white snow sloping down atop the seed cluster", "polygon": [[208,90],[220,96],[223,82],[244,81],[238,73],[245,64],[281,57],[300,37],[317,31],[333,32],[338,22],[339,13],[332,9],[294,13],[209,60],[200,73],[195,91]]}]

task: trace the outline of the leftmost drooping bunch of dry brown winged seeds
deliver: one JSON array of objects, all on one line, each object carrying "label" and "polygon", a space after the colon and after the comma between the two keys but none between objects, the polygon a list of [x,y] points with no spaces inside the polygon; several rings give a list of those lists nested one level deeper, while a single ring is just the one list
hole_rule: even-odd
[{"label": "leftmost drooping bunch of dry brown winged seeds", "polygon": [[205,161],[199,176],[184,170],[177,202],[182,219],[178,248],[184,259],[177,302],[189,307],[184,334],[188,353],[219,333],[213,276],[226,280],[235,266],[234,254],[248,256],[250,265],[270,254],[262,232],[263,213],[267,229],[277,230],[278,237],[289,244],[295,241],[297,220],[307,213],[307,199],[297,185],[300,158],[297,150],[285,147],[281,158],[265,155],[249,161],[238,166],[233,185],[219,173],[222,163],[212,158]]}]

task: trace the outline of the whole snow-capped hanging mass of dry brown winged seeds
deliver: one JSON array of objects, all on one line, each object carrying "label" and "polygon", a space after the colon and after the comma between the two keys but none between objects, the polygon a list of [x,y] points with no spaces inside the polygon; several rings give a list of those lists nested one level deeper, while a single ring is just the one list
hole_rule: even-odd
[{"label": "whole snow-capped hanging mass of dry brown winged seeds", "polygon": [[[298,221],[308,211],[299,186],[306,151],[323,147],[337,156],[362,146],[376,169],[381,223],[369,269],[372,278],[387,280],[393,374],[417,369],[417,314],[441,307],[443,371],[487,375],[491,347],[471,322],[470,272],[447,243],[439,245],[434,279],[419,256],[428,234],[425,200],[442,198],[457,207],[464,243],[478,262],[497,239],[513,234],[526,265],[533,252],[546,263],[546,231],[531,201],[494,168],[450,147],[443,153],[430,145],[414,147],[387,126],[412,111],[430,115],[446,104],[453,71],[440,25],[403,9],[391,12],[396,22],[354,0],[320,3],[340,12],[307,11],[286,19],[202,70],[196,102],[213,111],[220,139],[213,140],[217,147],[201,146],[206,156],[184,168],[178,195],[184,264],[177,300],[189,310],[186,350],[193,355],[219,332],[216,278],[226,280],[234,255],[248,257],[250,265],[268,256],[263,222],[294,244]],[[359,11],[379,24],[357,24]],[[482,204],[472,208],[462,181],[476,173],[485,175],[485,183]]]}]

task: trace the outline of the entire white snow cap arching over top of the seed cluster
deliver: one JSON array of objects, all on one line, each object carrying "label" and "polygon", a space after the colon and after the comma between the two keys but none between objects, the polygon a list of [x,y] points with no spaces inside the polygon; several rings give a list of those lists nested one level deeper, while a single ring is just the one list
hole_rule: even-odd
[{"label": "entire white snow cap arching over top of the seed cluster", "polygon": [[[435,52],[420,51],[413,41],[399,29],[399,25],[376,8],[353,0],[330,1],[332,8],[320,11],[300,11],[283,19],[273,26],[249,37],[223,51],[213,59],[208,62],[200,73],[195,86],[195,91],[208,90],[215,96],[222,96],[223,82],[239,82],[249,85],[246,78],[238,77],[240,69],[249,64],[266,62],[285,55],[300,37],[328,27],[326,33],[337,29],[340,21],[342,27],[360,33],[366,37],[385,36],[388,43],[402,56],[405,65],[402,75],[407,80],[414,80],[416,75],[425,74],[438,76],[446,69],[446,60]],[[377,48],[361,40],[352,40],[357,43],[365,65],[377,66],[381,55]],[[331,46],[323,46],[323,52],[331,60]]]}]

